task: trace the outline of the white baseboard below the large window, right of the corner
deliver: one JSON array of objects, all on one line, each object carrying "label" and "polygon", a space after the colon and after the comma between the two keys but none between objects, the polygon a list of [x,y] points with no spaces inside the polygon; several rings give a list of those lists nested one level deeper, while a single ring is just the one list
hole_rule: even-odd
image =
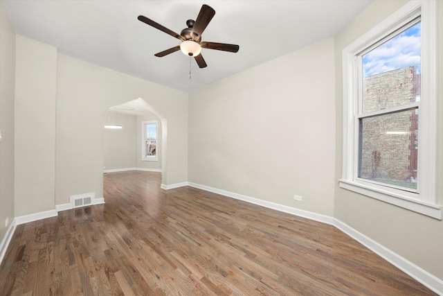
[{"label": "white baseboard below the large window, right of the corner", "polygon": [[423,270],[414,263],[408,261],[407,259],[404,259],[404,257],[395,252],[392,252],[387,247],[380,245],[379,243],[377,243],[377,241],[374,241],[372,238],[365,236],[364,234],[350,227],[346,223],[343,223],[341,220],[334,218],[334,226],[348,236],[354,238],[354,240],[358,241],[365,247],[368,247],[369,250],[381,256],[381,258],[385,259],[392,265],[395,265],[395,267],[399,268],[399,270],[405,272],[410,277],[413,277],[413,279],[416,279],[424,286],[433,290],[435,293],[443,295],[442,279],[438,279],[437,277],[435,277],[435,275],[432,275],[431,273]]}]

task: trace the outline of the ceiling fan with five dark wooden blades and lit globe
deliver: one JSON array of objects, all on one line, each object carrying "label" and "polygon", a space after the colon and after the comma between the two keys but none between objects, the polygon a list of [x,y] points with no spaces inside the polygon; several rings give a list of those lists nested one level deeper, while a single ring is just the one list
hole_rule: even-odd
[{"label": "ceiling fan with five dark wooden blades and lit globe", "polygon": [[199,67],[204,68],[208,65],[206,64],[203,56],[200,53],[201,49],[215,49],[217,51],[229,51],[231,53],[236,53],[239,50],[239,46],[235,44],[201,41],[201,34],[205,30],[206,26],[208,26],[210,20],[213,19],[214,15],[215,10],[213,10],[213,8],[211,8],[210,6],[204,4],[203,6],[201,6],[201,10],[199,12],[199,15],[197,16],[197,19],[195,21],[193,19],[188,19],[188,21],[186,21],[186,25],[188,26],[188,28],[184,28],[180,34],[177,34],[164,26],[161,26],[161,24],[158,24],[152,19],[148,19],[143,15],[139,15],[138,20],[143,21],[145,24],[153,26],[160,31],[163,31],[166,34],[177,38],[178,40],[181,40],[180,45],[156,53],[156,57],[161,58],[165,55],[169,55],[170,53],[181,50],[185,55],[194,57]]}]

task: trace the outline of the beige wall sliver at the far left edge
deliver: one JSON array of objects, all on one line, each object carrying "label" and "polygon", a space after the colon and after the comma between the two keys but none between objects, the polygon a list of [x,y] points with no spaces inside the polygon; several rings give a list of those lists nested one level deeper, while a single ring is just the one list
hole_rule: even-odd
[{"label": "beige wall sliver at the far left edge", "polygon": [[[15,31],[0,1],[0,242],[14,213]],[[9,227],[8,225],[8,227]]]}]

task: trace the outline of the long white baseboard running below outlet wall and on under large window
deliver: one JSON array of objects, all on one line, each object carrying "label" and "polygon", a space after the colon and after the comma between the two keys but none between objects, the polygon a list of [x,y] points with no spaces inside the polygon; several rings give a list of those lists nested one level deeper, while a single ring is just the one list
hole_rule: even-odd
[{"label": "long white baseboard running below outlet wall and on under large window", "polygon": [[[295,216],[300,216],[303,218],[316,220],[321,223],[333,225],[334,227],[336,227],[337,229],[340,229],[342,232],[344,232],[348,236],[354,238],[356,241],[358,241],[359,243],[361,243],[365,247],[368,247],[369,250],[371,250],[375,254],[378,254],[379,256],[381,256],[381,258],[385,259],[386,261],[388,261],[392,265],[395,265],[395,267],[399,268],[400,270],[405,272],[410,277],[413,277],[413,279],[419,281],[424,286],[433,290],[438,295],[443,296],[443,280],[442,279],[435,277],[431,273],[420,268],[419,266],[415,265],[414,263],[408,261],[407,259],[400,256],[399,254],[392,252],[387,247],[380,245],[379,243],[377,243],[377,241],[374,241],[372,238],[365,236],[364,234],[357,231],[356,229],[341,222],[341,220],[338,220],[338,219],[330,217],[330,216],[316,214],[311,211],[304,211],[301,209],[287,207],[282,204],[275,204],[274,202],[267,202],[266,200],[259,200],[257,198],[251,198],[249,196],[238,194],[238,193],[224,191],[221,189],[215,189],[215,188],[209,187],[209,186],[195,184],[192,182],[184,182],[184,183],[187,183],[188,186],[192,186],[192,187],[202,189],[205,191],[210,191],[210,192],[217,193],[220,195],[225,195],[229,198],[235,198],[237,200],[251,202],[253,204],[258,204],[262,207],[267,207],[269,209],[275,209],[277,211],[282,211],[284,213],[293,214]],[[182,184],[182,183],[179,183],[179,184]],[[163,186],[163,184],[162,184],[162,186]],[[181,185],[181,186],[186,186],[186,184]],[[177,187],[178,186],[176,186],[174,188],[177,188]]]}]

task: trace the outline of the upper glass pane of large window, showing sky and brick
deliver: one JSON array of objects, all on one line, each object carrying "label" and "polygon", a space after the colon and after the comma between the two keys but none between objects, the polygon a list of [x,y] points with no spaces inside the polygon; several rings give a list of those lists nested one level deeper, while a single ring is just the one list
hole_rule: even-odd
[{"label": "upper glass pane of large window, showing sky and brick", "polygon": [[363,113],[419,101],[421,22],[363,55]]}]

